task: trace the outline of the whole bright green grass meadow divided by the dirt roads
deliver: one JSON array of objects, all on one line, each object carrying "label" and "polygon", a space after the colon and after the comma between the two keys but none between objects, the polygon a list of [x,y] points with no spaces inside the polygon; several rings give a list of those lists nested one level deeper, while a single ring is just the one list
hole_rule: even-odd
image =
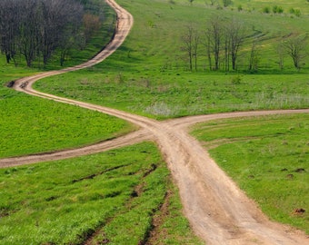
[{"label": "whole bright green grass meadow divided by the dirt roads", "polygon": [[[212,6],[210,0],[194,0],[192,5],[185,0],[119,0],[117,3],[135,17],[135,25],[120,49],[103,64],[46,78],[35,83],[35,88],[159,120],[204,113],[308,108],[309,69],[304,65],[296,71],[285,55],[281,70],[276,54],[283,36],[307,32],[308,4],[301,0],[293,4],[288,0],[276,2],[284,7],[284,14],[263,13],[264,5],[272,5],[257,0],[234,0],[227,8]],[[238,11],[239,5],[242,11]],[[302,15],[288,14],[291,7],[301,8]],[[250,37],[240,51],[239,70],[210,71],[201,44],[198,69],[190,72],[181,37],[187,25],[194,25],[204,38],[204,27],[213,15],[237,16],[248,26]],[[106,9],[106,17],[93,45],[83,52],[73,51],[65,66],[87,60],[108,42],[115,14]],[[249,50],[258,34],[263,34],[259,68],[250,72]],[[14,67],[3,63],[3,56],[0,60],[1,158],[73,148],[135,129],[113,117],[6,88],[9,81],[44,68],[40,64],[24,68],[22,63]],[[306,57],[304,64],[308,62]],[[45,70],[59,67],[55,54]],[[294,212],[308,210],[307,121],[308,116],[302,114],[212,122],[203,126],[212,126],[211,131],[202,127],[194,135],[203,142],[214,142],[209,146],[205,143],[205,147],[212,148],[214,159],[271,219],[308,233],[307,212]],[[213,138],[207,138],[210,132],[214,132]],[[177,190],[159,155],[153,144],[142,143],[78,159],[0,170],[0,194],[5,197],[0,200],[0,239],[7,244],[23,244],[25,238],[25,244],[79,244],[96,235],[94,242],[128,244],[132,240],[137,244],[148,239],[158,216],[162,220],[158,244],[184,244],[184,240],[186,244],[200,244],[182,216]],[[265,189],[270,191],[266,193]],[[169,201],[167,193],[172,193]],[[167,211],[161,209],[163,203],[167,203]],[[120,230],[130,230],[132,236]]]}]

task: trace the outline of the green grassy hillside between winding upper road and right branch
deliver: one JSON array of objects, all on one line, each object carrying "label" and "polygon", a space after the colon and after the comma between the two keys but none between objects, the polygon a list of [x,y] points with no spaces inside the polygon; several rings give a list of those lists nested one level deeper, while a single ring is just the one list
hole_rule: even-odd
[{"label": "green grassy hillside between winding upper road and right branch", "polygon": [[[286,69],[280,71],[275,54],[281,36],[291,31],[306,32],[306,17],[216,10],[203,1],[194,1],[192,6],[187,1],[119,3],[135,17],[125,44],[103,64],[39,81],[36,89],[158,119],[309,106],[308,69],[296,72],[285,57]],[[236,15],[249,27],[248,33],[265,34],[260,44],[262,68],[258,73],[210,72],[202,55],[198,72],[186,70],[180,36],[189,23],[204,28],[214,13]],[[250,40],[240,52],[240,66],[247,67]],[[200,48],[203,54],[204,46]],[[235,76],[240,76],[240,83],[233,83]]]}]

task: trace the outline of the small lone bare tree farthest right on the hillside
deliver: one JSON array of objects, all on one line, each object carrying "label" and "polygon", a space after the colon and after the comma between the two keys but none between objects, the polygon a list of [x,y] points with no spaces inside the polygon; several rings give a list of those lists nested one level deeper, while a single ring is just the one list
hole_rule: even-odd
[{"label": "small lone bare tree farthest right on the hillside", "polygon": [[290,37],[284,41],[286,53],[293,59],[294,67],[297,70],[301,69],[304,57],[306,56],[306,45],[306,37],[301,36]]}]

